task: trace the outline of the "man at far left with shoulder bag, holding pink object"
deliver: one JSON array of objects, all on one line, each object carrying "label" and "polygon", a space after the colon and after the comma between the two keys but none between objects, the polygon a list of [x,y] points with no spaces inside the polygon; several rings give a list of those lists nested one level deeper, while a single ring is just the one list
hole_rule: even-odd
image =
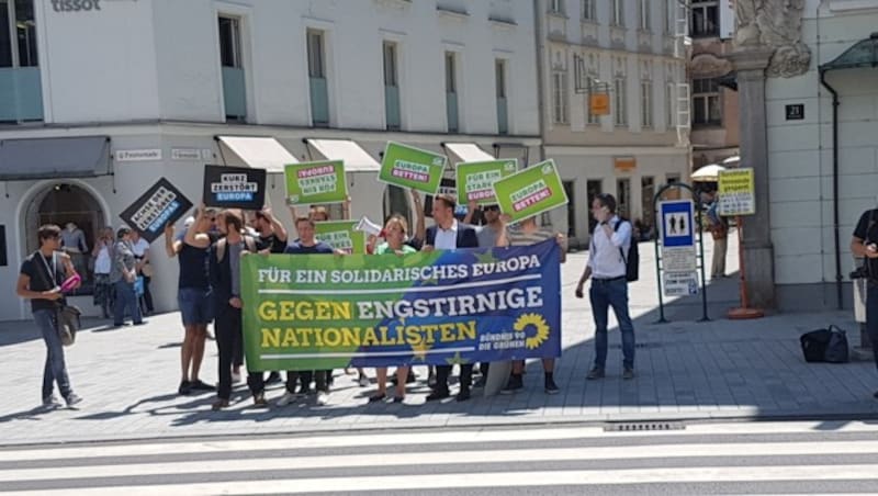
[{"label": "man at far left with shoulder bag, holding pink object", "polygon": [[68,407],[82,401],[70,386],[58,330],[58,313],[65,304],[60,285],[76,275],[70,256],[58,252],[60,235],[61,228],[56,225],[40,227],[40,249],[24,259],[15,285],[18,295],[31,301],[34,322],[46,343],[46,364],[43,368],[43,406],[46,408],[60,405],[54,393],[56,383]]}]

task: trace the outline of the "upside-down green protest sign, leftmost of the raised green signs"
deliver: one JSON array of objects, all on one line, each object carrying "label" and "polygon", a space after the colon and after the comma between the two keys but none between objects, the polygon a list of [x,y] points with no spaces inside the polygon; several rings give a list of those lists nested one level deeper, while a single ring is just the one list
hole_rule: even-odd
[{"label": "upside-down green protest sign, leftmost of the raised green signs", "polygon": [[290,205],[341,203],[348,198],[341,160],[290,164],[284,167],[284,176]]}]

